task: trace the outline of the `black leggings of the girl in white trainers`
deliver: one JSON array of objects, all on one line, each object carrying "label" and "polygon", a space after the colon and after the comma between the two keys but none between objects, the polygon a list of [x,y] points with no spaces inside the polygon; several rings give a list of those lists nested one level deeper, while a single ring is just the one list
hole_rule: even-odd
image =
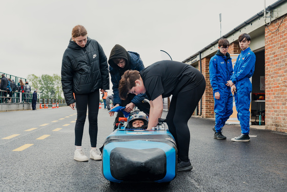
[{"label": "black leggings of the girl in white trainers", "polygon": [[75,94],[75,99],[77,109],[77,121],[75,125],[75,145],[81,146],[88,105],[90,141],[91,146],[96,147],[98,134],[99,90],[96,90],[95,92],[89,94]]}]

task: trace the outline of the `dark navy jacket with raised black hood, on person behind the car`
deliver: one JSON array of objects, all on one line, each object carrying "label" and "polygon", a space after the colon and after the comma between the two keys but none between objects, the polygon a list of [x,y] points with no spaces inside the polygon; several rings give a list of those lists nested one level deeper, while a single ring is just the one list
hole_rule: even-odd
[{"label": "dark navy jacket with raised black hood, on person behind the car", "polygon": [[[126,60],[125,68],[120,68],[113,62],[115,58],[123,58]],[[108,61],[110,67],[111,81],[113,83],[113,93],[114,93],[114,105],[121,105],[121,99],[119,98],[118,84],[121,79],[121,75],[124,74],[126,70],[137,70],[141,71],[145,69],[144,63],[142,63],[140,56],[136,52],[126,51],[126,49],[120,45],[115,45],[111,51],[110,58]],[[141,103],[146,98],[146,94],[138,94],[132,99],[132,103],[137,105]]]}]

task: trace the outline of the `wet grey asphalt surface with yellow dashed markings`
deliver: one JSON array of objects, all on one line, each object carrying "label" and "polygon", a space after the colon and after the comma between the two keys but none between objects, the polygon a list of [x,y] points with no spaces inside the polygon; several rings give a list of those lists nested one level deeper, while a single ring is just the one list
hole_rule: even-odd
[{"label": "wet grey asphalt surface with yellow dashed markings", "polygon": [[[113,184],[101,161],[73,159],[75,121],[70,107],[0,112],[0,191],[287,191],[286,133],[251,129],[251,141],[237,143],[230,139],[240,127],[226,125],[228,139],[215,140],[214,120],[191,118],[192,171],[178,172],[169,184]],[[98,147],[113,121],[99,109]],[[89,156],[87,122],[83,149]]]}]

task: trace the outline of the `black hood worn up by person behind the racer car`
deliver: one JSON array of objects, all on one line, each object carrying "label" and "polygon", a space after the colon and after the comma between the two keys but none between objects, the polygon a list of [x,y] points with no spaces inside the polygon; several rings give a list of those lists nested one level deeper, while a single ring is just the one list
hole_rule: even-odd
[{"label": "black hood worn up by person behind the racer car", "polygon": [[[116,63],[114,63],[113,59],[119,59],[119,58],[126,60],[126,66],[124,68],[121,68]],[[124,47],[116,44],[111,50],[108,63],[114,69],[126,71],[130,69],[130,55]]]}]

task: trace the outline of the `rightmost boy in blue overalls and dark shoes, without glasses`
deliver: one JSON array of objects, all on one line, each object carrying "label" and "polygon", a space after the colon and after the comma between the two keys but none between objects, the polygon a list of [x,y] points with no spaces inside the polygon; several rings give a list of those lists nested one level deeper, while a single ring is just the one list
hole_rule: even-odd
[{"label": "rightmost boy in blue overalls and dark shoes, without glasses", "polygon": [[234,73],[228,81],[227,85],[231,87],[234,92],[235,106],[237,110],[237,119],[240,122],[241,136],[231,139],[236,142],[250,141],[250,94],[252,91],[252,84],[250,78],[255,69],[256,56],[251,51],[249,45],[251,37],[247,33],[243,33],[238,37],[241,53],[238,55]]}]

